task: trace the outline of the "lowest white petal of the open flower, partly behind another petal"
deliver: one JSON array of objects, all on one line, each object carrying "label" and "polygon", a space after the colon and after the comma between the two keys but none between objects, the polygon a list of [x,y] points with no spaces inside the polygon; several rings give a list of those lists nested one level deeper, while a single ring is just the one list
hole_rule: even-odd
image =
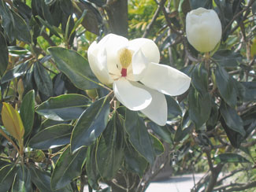
[{"label": "lowest white petal of the open flower, partly behind another petal", "polygon": [[150,102],[150,105],[148,105],[147,108],[142,109],[140,111],[150,120],[154,121],[154,123],[160,126],[164,126],[167,121],[168,112],[165,95],[159,93],[157,90],[152,90],[148,87],[145,87],[142,84],[136,82],[132,84],[147,90],[148,92],[150,92],[152,96],[152,102]]}]

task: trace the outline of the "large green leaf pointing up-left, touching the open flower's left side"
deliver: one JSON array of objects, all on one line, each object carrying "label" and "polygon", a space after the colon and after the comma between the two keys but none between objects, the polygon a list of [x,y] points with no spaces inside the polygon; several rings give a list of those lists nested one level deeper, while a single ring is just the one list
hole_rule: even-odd
[{"label": "large green leaf pointing up-left, touching the open flower's left side", "polygon": [[54,57],[58,69],[65,73],[74,85],[82,90],[94,89],[98,82],[88,61],[74,50],[61,47],[50,47],[48,49]]}]

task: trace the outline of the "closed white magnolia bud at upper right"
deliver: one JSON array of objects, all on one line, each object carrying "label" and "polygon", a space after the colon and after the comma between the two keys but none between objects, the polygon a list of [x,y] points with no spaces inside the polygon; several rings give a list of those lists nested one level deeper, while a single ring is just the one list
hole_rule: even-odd
[{"label": "closed white magnolia bud at upper right", "polygon": [[213,9],[191,10],[186,17],[188,42],[200,52],[209,52],[221,41],[221,20]]}]

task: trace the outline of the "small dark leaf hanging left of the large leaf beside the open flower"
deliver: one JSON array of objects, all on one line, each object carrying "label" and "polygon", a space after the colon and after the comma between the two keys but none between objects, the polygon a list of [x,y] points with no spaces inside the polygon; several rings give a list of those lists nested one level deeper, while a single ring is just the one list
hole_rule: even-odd
[{"label": "small dark leaf hanging left of the large leaf beside the open flower", "polygon": [[53,83],[50,79],[50,75],[39,62],[36,62],[34,65],[34,79],[36,86],[42,94],[47,97],[53,95]]}]

